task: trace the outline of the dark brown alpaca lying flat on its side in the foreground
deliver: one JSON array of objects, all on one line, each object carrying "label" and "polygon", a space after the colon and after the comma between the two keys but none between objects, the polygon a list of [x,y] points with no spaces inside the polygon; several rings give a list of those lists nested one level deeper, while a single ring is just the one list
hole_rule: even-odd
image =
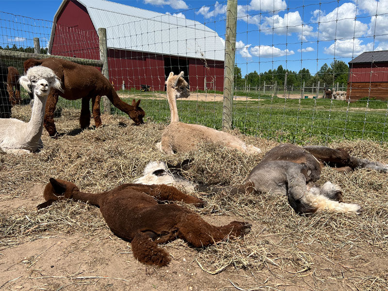
[{"label": "dark brown alpaca lying flat on its side in the foreground", "polygon": [[203,200],[166,185],[123,184],[94,194],[81,192],[71,182],[50,178],[43,195],[46,202],[38,205],[38,209],[62,199],[98,206],[112,232],[130,241],[133,256],[149,265],[165,266],[171,260],[158,243],[180,238],[194,247],[202,247],[221,241],[229,234],[244,235],[252,226],[239,221],[212,226],[187,208],[164,204],[164,201],[183,201],[196,207],[204,204]]}]

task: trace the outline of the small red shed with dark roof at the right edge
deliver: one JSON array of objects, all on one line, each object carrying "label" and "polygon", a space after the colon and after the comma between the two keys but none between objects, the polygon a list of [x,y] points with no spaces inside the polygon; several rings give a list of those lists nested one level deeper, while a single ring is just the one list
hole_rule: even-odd
[{"label": "small red shed with dark roof at the right edge", "polygon": [[388,50],[366,51],[349,62],[349,97],[388,100]]}]

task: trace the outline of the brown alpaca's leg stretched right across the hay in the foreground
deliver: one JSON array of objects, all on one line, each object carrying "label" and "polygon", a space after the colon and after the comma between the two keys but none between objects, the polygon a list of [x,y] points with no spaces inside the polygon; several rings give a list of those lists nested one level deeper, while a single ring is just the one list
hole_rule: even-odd
[{"label": "brown alpaca's leg stretched right across the hay in the foreground", "polygon": [[233,221],[226,226],[212,226],[198,214],[188,213],[183,215],[178,223],[177,235],[194,247],[202,247],[221,241],[229,234],[236,237],[243,236],[250,231],[251,226],[239,221]]}]

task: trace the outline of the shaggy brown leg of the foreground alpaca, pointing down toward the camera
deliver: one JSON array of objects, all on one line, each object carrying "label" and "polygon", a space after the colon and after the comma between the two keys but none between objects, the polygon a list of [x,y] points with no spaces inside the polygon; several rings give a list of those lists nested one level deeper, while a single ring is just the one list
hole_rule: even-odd
[{"label": "shaggy brown leg of the foreground alpaca, pointing down toward the camera", "polygon": [[147,265],[162,267],[171,261],[170,255],[145,233],[138,232],[131,241],[131,247],[133,256]]}]

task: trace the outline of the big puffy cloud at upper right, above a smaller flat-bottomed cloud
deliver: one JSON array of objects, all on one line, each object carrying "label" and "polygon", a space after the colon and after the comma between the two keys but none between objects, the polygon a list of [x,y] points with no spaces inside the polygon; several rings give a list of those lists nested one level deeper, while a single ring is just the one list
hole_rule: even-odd
[{"label": "big puffy cloud at upper right, above a smaller flat-bottomed cloud", "polygon": [[327,15],[315,10],[312,22],[320,22],[319,40],[361,37],[368,31],[368,25],[355,20],[355,17],[356,5],[347,2]]}]

